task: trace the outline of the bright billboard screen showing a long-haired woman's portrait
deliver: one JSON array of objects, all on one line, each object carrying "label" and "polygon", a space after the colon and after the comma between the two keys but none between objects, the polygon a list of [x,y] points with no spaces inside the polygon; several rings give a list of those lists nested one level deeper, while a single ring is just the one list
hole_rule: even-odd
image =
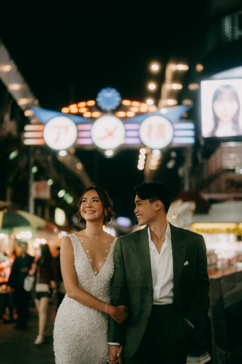
[{"label": "bright billboard screen showing a long-haired woman's portrait", "polygon": [[242,135],[242,78],[201,81],[204,138]]}]

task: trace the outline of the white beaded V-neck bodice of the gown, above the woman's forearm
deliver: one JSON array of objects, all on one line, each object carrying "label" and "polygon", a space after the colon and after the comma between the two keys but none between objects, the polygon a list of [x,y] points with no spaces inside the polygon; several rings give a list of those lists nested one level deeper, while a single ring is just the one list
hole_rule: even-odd
[{"label": "white beaded V-neck bodice of the gown, above the woman's forearm", "polygon": [[110,282],[113,275],[113,249],[117,238],[114,238],[107,260],[96,275],[81,242],[75,234],[67,235],[72,242],[74,250],[74,268],[78,286],[88,293],[107,302],[110,299]]}]

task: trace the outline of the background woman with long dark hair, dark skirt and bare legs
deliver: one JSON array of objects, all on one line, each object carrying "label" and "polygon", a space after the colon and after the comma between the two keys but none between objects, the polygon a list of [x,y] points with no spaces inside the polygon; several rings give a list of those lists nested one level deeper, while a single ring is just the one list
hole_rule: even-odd
[{"label": "background woman with long dark hair, dark skirt and bare legs", "polygon": [[52,258],[47,244],[41,244],[38,251],[39,259],[35,260],[29,275],[35,274],[35,286],[33,298],[38,310],[39,329],[35,344],[40,345],[44,342],[44,330],[48,315],[48,304],[51,296],[50,289],[57,286],[56,261]]}]

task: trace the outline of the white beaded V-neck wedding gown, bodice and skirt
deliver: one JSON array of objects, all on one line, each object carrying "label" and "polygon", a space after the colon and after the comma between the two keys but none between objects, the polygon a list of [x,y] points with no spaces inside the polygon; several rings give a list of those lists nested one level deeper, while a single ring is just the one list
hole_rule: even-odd
[{"label": "white beaded V-neck wedding gown, bodice and skirt", "polygon": [[[110,302],[110,282],[113,275],[111,244],[107,260],[95,274],[85,250],[75,234],[67,235],[74,250],[74,268],[78,286],[104,302]],[[106,364],[108,322],[105,313],[84,306],[66,294],[54,324],[54,352],[56,364]]]}]

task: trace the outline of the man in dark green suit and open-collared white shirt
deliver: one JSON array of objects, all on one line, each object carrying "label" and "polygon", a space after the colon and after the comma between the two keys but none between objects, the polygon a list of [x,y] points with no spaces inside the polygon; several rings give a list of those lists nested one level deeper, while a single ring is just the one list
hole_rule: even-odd
[{"label": "man in dark green suit and open-collared white shirt", "polygon": [[124,325],[109,318],[109,362],[185,364],[198,331],[209,281],[201,235],[167,223],[168,188],[148,182],[134,188],[142,230],[118,238],[114,249],[111,304],[129,307]]}]

